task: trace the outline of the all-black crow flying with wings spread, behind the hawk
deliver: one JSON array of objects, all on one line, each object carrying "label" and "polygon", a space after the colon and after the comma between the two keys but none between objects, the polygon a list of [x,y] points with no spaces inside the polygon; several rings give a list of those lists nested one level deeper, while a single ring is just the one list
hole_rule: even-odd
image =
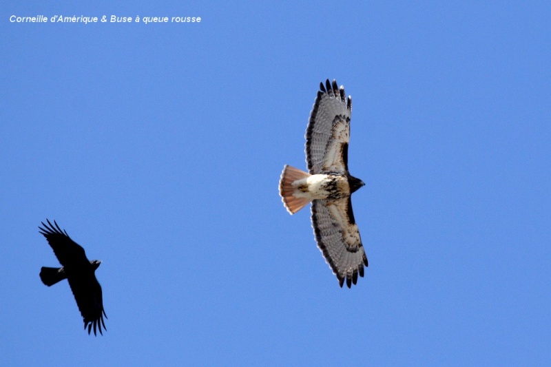
[{"label": "all-black crow flying with wings spread, behind the hawk", "polygon": [[[76,305],[79,306],[81,315],[84,319],[84,329],[88,328],[88,334],[94,328],[101,332],[101,326],[105,328],[103,316],[103,299],[101,297],[101,286],[96,280],[96,269],[98,269],[101,261],[88,260],[84,249],[71,240],[67,232],[62,231],[54,220],[55,227],[47,220],[48,224],[39,227],[40,233],[48,240],[50,247],[54,250],[59,263],[63,265],[61,268],[48,268],[43,266],[40,271],[40,279],[47,286],[52,286],[61,280],[67,279],[71,291],[76,300]],[[107,315],[105,315],[107,317]]]}]

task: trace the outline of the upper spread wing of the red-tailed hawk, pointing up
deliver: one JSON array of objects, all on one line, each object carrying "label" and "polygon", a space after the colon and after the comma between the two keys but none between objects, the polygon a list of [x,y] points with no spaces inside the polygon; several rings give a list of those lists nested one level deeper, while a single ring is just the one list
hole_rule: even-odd
[{"label": "upper spread wing of the red-tailed hawk, pointing up", "polygon": [[306,163],[310,174],[348,173],[352,98],[344,87],[320,83],[306,128]]}]

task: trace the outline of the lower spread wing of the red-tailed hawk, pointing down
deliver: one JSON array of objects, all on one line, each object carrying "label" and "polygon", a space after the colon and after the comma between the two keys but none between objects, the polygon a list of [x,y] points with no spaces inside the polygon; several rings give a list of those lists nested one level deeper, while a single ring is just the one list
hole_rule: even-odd
[{"label": "lower spread wing of the red-tailed hawk, pointing down", "polygon": [[313,200],[312,227],[326,262],[337,275],[340,286],[356,284],[364,276],[367,257],[354,220],[350,198]]}]

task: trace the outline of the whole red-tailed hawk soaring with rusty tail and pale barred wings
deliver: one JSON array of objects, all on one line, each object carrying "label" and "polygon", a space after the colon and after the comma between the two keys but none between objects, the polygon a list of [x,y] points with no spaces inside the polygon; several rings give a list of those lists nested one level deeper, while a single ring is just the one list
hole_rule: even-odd
[{"label": "whole red-tailed hawk soaring with rusty tail and pale barred wings", "polygon": [[327,79],[315,98],[306,128],[309,173],[286,165],[281,174],[283,205],[294,214],[312,202],[315,240],[339,285],[350,288],[364,276],[367,257],[352,211],[351,195],[364,186],[349,174],[348,152],[352,98]]}]

